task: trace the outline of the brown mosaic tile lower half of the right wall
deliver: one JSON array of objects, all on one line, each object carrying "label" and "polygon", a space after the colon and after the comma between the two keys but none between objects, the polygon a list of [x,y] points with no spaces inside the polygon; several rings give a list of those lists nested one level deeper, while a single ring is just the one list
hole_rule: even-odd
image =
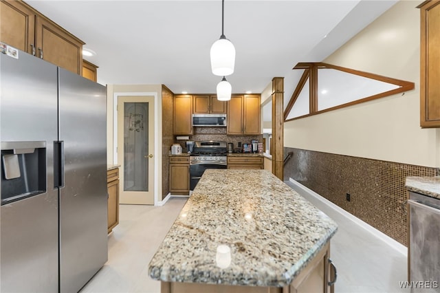
[{"label": "brown mosaic tile lower half of the right wall", "polygon": [[[440,169],[285,148],[293,152],[284,168],[289,177],[407,246],[407,176],[440,175]],[[346,199],[347,193],[351,201]]]}]

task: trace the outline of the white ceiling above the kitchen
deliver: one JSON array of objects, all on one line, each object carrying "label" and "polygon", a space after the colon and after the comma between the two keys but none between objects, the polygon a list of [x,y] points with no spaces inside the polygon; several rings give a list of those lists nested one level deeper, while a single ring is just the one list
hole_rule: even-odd
[{"label": "white ceiling above the kitchen", "polygon": [[[221,34],[221,0],[26,2],[97,53],[85,59],[99,66],[98,83],[206,94],[221,80],[209,58]],[[287,102],[296,63],[322,61],[395,2],[226,0],[224,32],[236,48],[232,92],[261,93],[283,76]]]}]

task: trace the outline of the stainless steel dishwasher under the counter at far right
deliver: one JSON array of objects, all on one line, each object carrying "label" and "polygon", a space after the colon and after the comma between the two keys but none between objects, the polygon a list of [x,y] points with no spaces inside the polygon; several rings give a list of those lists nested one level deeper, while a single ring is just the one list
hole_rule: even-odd
[{"label": "stainless steel dishwasher under the counter at far right", "polygon": [[440,292],[440,199],[410,192],[411,292]]}]

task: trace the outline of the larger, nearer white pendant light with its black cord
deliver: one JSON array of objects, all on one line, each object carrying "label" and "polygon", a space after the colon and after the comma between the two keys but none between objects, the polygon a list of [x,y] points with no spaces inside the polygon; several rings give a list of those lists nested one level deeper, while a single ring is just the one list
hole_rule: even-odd
[{"label": "larger, nearer white pendant light with its black cord", "polygon": [[234,72],[235,47],[223,34],[225,0],[221,0],[221,36],[211,46],[211,69],[217,76],[228,76]]}]

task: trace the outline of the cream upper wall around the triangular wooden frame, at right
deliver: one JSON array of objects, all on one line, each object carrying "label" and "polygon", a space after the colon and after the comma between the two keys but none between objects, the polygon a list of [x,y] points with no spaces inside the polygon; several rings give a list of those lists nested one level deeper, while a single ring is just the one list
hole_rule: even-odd
[{"label": "cream upper wall around the triangular wooden frame, at right", "polygon": [[286,122],[285,146],[440,166],[440,130],[419,127],[421,1],[399,1],[324,62],[415,83],[415,89]]}]

